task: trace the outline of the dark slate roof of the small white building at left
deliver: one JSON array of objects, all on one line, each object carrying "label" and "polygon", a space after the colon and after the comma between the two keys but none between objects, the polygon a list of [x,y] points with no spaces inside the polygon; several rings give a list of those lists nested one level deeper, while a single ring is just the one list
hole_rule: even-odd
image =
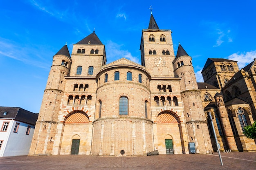
[{"label": "dark slate roof of the small white building at left", "polygon": [[[7,112],[6,115],[3,115]],[[22,121],[27,124],[36,125],[36,120],[38,114],[29,112],[20,107],[1,107],[0,106],[0,119],[15,119],[17,121]]]}]

